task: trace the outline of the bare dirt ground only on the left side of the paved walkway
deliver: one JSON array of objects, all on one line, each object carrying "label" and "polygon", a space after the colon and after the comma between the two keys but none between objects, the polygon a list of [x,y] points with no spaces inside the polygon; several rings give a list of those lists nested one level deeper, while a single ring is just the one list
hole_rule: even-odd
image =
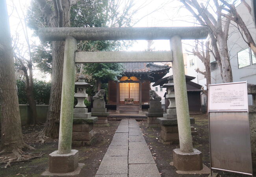
[{"label": "bare dirt ground only on the left side of the paved walkway", "polygon": [[[95,176],[119,123],[120,121],[109,121],[110,127],[94,127],[95,138],[93,145],[79,148],[74,147],[79,151],[79,163],[85,164],[80,175],[77,175],[77,177]],[[35,150],[27,150],[24,153],[29,152],[37,155],[45,153],[45,155],[31,161],[12,163],[11,167],[7,168],[4,168],[5,164],[1,164],[0,177],[39,177],[48,168],[48,154],[58,149],[58,140],[46,139],[44,144],[40,144],[36,138],[31,138],[42,128],[43,126],[41,125],[22,127],[25,141],[36,148]],[[4,156],[6,155],[1,155],[0,158]]]}]

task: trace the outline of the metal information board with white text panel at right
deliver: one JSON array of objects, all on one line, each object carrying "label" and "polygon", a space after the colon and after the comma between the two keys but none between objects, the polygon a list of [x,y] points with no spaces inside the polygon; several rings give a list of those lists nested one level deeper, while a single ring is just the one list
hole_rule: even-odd
[{"label": "metal information board with white text panel at right", "polygon": [[209,85],[211,169],[252,175],[247,83]]}]

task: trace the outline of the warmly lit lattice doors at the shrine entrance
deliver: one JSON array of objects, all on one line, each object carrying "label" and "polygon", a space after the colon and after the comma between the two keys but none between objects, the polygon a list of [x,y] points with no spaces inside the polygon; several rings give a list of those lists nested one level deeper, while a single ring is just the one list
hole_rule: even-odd
[{"label": "warmly lit lattice doors at the shrine entrance", "polygon": [[139,101],[139,83],[120,83],[120,101],[132,98]]}]

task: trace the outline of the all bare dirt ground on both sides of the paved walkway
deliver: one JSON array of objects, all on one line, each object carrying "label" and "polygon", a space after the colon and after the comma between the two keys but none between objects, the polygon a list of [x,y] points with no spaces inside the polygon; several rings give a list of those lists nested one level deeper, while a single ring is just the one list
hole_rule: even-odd
[{"label": "all bare dirt ground on both sides of the paved walkway", "polygon": [[[203,163],[210,166],[209,141],[208,141],[208,118],[206,115],[193,115],[196,124],[193,126],[198,133],[193,135],[193,147],[203,154]],[[109,121],[110,127],[94,127],[95,140],[92,146],[75,148],[79,151],[79,162],[84,163],[80,175],[77,177],[93,177],[100,166],[100,162],[106,153],[108,146],[120,121]],[[150,151],[156,160],[158,170],[162,177],[208,177],[208,174],[181,175],[176,173],[176,169],[170,166],[173,161],[172,150],[178,145],[163,145],[160,142],[161,129],[146,128],[145,122],[138,122],[145,140],[150,147]],[[0,164],[0,177],[37,177],[48,168],[48,154],[58,149],[58,140],[46,139],[44,144],[40,144],[36,138],[32,138],[35,133],[43,128],[42,125],[27,125],[22,127],[26,143],[35,147],[35,150],[26,150],[24,155],[42,155],[30,161],[12,163],[10,167],[4,168],[5,164]],[[0,156],[0,161],[6,155]],[[235,173],[218,171],[221,177],[246,177]]]}]

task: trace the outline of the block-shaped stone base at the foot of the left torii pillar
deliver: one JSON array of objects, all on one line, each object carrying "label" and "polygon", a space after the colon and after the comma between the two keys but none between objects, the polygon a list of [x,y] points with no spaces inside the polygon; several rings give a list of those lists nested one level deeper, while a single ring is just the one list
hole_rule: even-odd
[{"label": "block-shaped stone base at the foot of the left torii pillar", "polygon": [[78,150],[71,149],[68,154],[58,154],[54,151],[49,154],[50,173],[69,173],[78,167]]}]

